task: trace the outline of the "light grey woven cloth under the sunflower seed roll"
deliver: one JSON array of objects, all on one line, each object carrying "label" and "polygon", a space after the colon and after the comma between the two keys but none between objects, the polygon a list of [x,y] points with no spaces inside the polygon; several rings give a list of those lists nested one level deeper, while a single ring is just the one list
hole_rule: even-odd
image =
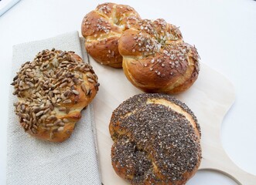
[{"label": "light grey woven cloth under the sunflower seed roll", "polygon": [[[22,63],[31,61],[43,49],[74,51],[83,56],[78,32],[13,46],[12,77]],[[84,55],[84,62],[88,62]],[[12,80],[10,80],[10,83]],[[37,140],[19,126],[12,106],[16,98],[9,96],[7,133],[7,184],[101,184],[92,106],[82,111],[70,139],[63,143]]]}]

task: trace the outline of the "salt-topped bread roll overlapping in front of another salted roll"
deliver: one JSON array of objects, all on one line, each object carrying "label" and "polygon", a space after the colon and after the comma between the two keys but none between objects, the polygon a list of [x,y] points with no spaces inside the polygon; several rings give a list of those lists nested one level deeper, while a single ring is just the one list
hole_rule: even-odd
[{"label": "salt-topped bread roll overlapping in front of another salted roll", "polygon": [[175,25],[142,20],[119,39],[128,80],[148,93],[181,93],[196,81],[199,55]]}]

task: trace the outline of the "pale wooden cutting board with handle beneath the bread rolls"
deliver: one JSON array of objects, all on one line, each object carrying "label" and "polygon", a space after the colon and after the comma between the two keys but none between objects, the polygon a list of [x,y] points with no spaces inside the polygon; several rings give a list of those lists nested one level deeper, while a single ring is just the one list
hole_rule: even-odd
[{"label": "pale wooden cutting board with handle beneath the bread rolls", "polygon": [[[125,99],[142,93],[128,82],[122,69],[102,66],[90,58],[99,77],[100,90],[94,99],[94,119],[97,129],[97,148],[104,185],[128,184],[118,177],[111,166],[113,141],[108,131],[112,111]],[[224,152],[220,142],[222,119],[234,103],[234,86],[220,73],[201,63],[200,76],[180,99],[195,113],[202,129],[203,160],[200,169],[217,170],[238,184],[255,185],[256,177],[237,167]]]}]

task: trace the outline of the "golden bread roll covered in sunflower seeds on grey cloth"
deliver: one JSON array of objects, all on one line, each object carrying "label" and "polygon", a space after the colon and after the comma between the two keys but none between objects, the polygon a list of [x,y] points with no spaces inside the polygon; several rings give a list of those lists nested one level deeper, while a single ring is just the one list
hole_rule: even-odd
[{"label": "golden bread roll covered in sunflower seeds on grey cloth", "polygon": [[48,49],[21,66],[13,79],[15,113],[31,136],[62,142],[70,137],[80,111],[97,93],[92,67],[74,52]]}]

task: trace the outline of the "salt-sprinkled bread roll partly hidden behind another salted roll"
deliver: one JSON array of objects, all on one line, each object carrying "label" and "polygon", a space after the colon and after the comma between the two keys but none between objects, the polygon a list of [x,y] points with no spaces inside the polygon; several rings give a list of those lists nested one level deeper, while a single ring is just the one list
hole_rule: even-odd
[{"label": "salt-sprinkled bread roll partly hidden behind another salted roll", "polygon": [[121,34],[135,25],[140,16],[128,5],[104,3],[85,15],[82,35],[85,48],[95,61],[114,68],[121,68],[122,57],[118,52]]}]

